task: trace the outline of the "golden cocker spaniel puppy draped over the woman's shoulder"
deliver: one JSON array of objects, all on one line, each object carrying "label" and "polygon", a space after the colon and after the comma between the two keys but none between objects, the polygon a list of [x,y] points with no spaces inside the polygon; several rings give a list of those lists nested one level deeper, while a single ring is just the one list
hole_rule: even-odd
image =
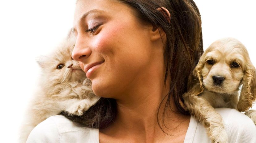
[{"label": "golden cocker spaniel puppy draped over the woman's shoulder", "polygon": [[[213,42],[201,56],[192,76],[189,90],[183,95],[186,109],[208,129],[214,143],[228,143],[222,117],[214,108],[247,111],[256,100],[255,68],[245,46],[234,38]],[[245,114],[255,123],[255,113],[250,110]]]}]

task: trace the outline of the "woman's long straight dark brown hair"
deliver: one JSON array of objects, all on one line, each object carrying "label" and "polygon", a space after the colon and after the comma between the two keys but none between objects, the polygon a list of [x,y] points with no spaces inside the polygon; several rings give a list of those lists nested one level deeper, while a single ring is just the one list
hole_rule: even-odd
[{"label": "woman's long straight dark brown hair", "polygon": [[[164,45],[164,62],[166,65],[165,79],[171,77],[170,91],[166,95],[164,105],[165,113],[172,110],[171,97],[178,109],[178,113],[189,114],[183,107],[182,94],[187,91],[188,78],[203,54],[203,41],[201,18],[199,10],[193,0],[117,0],[134,9],[141,22],[150,23],[157,28],[162,28],[167,41]],[[164,14],[164,7],[171,17]],[[159,106],[159,109],[160,109]],[[159,110],[157,121],[159,124]],[[109,126],[117,114],[115,99],[100,98],[83,116],[64,116],[89,128],[105,128]],[[162,120],[164,121],[164,120]],[[160,126],[160,124],[159,124]],[[161,127],[161,126],[160,126]],[[162,127],[161,127],[162,128]]]}]

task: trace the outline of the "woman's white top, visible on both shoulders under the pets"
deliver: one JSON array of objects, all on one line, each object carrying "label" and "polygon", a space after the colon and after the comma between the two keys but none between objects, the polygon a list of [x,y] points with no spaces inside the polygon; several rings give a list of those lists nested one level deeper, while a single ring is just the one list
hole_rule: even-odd
[{"label": "woman's white top, visible on both shoulders under the pets", "polygon": [[[229,143],[256,143],[253,121],[235,109],[216,108]],[[62,115],[49,117],[30,133],[27,143],[99,143],[99,130],[82,127]],[[184,143],[211,143],[203,125],[191,116]]]}]

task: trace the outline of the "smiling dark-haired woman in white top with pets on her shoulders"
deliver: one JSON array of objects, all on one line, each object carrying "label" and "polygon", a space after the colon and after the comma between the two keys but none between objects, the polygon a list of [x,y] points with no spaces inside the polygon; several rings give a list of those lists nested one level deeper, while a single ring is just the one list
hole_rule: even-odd
[{"label": "smiling dark-haired woman in white top with pets on her shoulders", "polygon": [[[182,94],[203,53],[192,0],[78,0],[74,31],[72,58],[102,98],[82,117],[65,115],[74,122],[61,115],[43,121],[28,143],[211,142],[183,108]],[[97,66],[89,69],[90,64]],[[256,141],[245,115],[218,112],[230,142]]]}]

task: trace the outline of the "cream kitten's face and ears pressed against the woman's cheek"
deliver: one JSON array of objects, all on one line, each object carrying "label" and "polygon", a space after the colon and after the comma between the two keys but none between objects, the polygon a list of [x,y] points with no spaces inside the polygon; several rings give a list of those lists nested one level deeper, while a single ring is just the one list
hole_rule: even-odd
[{"label": "cream kitten's face and ears pressed against the woman's cheek", "polygon": [[53,54],[38,61],[46,82],[66,83],[86,78],[86,73],[81,70],[79,62],[71,58],[74,44],[75,39],[69,39],[63,42]]}]

